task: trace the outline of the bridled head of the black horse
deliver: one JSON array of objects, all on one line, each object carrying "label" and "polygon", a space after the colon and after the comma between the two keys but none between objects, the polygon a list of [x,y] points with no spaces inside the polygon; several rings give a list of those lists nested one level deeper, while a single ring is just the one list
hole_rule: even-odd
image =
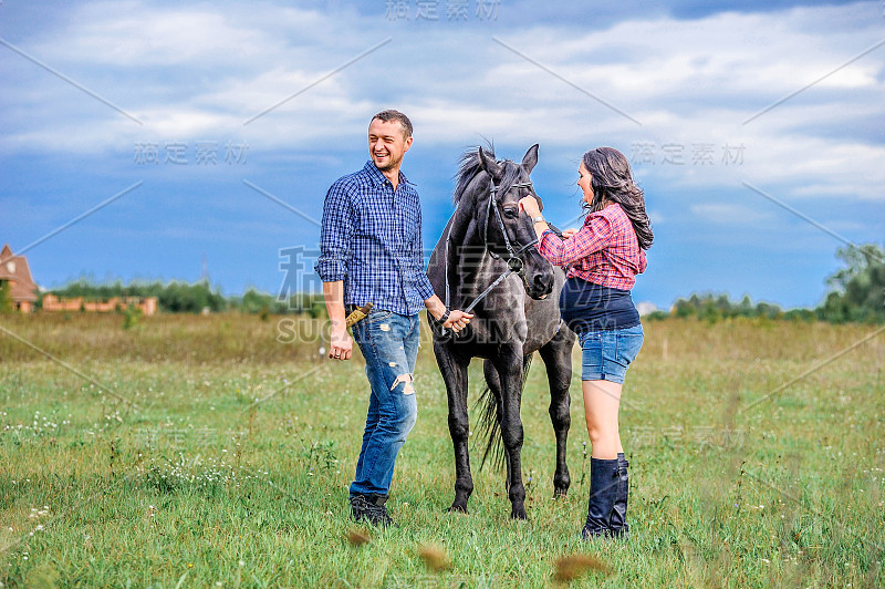
[{"label": "bridled head of the black horse", "polygon": [[[488,251],[522,273],[525,292],[532,299],[543,299],[553,290],[553,267],[535,248],[538,236],[532,220],[519,211],[520,198],[538,198],[529,177],[537,163],[538,144],[525,152],[521,164],[496,162],[480,147],[479,165],[491,176],[491,186],[486,206],[477,207],[477,214]],[[543,208],[540,198],[538,203]]]}]

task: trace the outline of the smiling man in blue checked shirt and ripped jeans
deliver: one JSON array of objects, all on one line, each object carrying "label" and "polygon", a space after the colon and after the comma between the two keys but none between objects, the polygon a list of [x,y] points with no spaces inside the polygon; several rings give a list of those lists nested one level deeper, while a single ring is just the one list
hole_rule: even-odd
[{"label": "smiling man in blue checked shirt and ripped jeans", "polygon": [[[323,205],[316,273],[332,323],[329,358],[348,360],[356,340],[372,388],[363,447],[351,485],[357,521],[393,524],[387,500],[394,463],[415,425],[415,360],[418,311],[460,331],[472,314],[446,309],[424,271],[421,209],[415,185],[399,172],[412,147],[412,123],[397,111],[376,114],[368,125],[372,158],[329,189]],[[366,303],[368,316],[347,334],[345,311]]]}]

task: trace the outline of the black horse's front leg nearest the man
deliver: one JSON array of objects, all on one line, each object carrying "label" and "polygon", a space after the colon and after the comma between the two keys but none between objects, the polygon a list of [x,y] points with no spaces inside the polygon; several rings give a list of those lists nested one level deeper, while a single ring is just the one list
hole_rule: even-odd
[{"label": "black horse's front leg nearest the man", "polygon": [[467,415],[467,366],[470,359],[459,359],[446,343],[434,342],[434,354],[446,383],[449,405],[449,435],[455,450],[455,502],[450,512],[467,513],[467,499],[473,492],[470,454],[467,447],[470,422]]}]

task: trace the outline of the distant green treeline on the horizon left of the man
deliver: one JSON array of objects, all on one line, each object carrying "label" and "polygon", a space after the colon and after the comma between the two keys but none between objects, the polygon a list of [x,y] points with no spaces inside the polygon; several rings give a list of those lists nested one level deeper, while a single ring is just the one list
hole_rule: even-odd
[{"label": "distant green treeline on the horizon left of the man", "polygon": [[[290,299],[280,301],[267,292],[249,289],[242,296],[225,297],[218,288],[212,289],[206,281],[194,285],[176,281],[133,282],[124,286],[121,281],[96,285],[88,280],[77,280],[50,292],[63,299],[82,297],[90,301],[113,297],[156,297],[159,309],[169,313],[200,313],[208,310],[266,314],[306,313],[319,317],[325,309],[322,294],[293,294]],[[44,294],[40,296],[38,308]]]}]

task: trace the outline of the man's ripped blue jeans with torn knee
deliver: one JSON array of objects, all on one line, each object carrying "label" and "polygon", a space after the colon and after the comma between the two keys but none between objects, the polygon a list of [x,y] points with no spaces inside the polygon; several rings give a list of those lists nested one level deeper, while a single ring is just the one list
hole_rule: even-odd
[{"label": "man's ripped blue jeans with torn knee", "polygon": [[391,488],[396,455],[418,417],[413,376],[419,337],[417,314],[372,310],[353,327],[372,394],[351,495],[387,495]]}]

